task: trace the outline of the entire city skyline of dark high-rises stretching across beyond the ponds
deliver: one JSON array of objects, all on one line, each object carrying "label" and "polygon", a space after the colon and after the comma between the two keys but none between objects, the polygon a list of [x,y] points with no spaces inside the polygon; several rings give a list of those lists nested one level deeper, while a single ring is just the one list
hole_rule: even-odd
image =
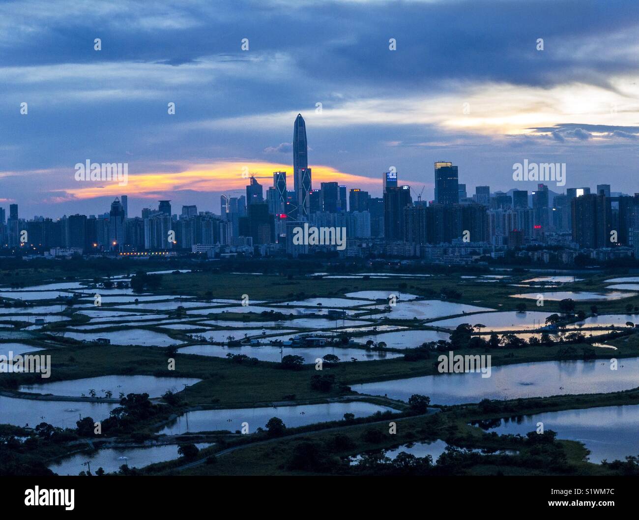
[{"label": "entire city skyline of dark high-rises stretching across beyond the ponds", "polygon": [[[610,185],[569,188],[548,185],[491,193],[488,185],[468,196],[452,162],[435,162],[435,199],[422,200],[396,171],[382,174],[381,197],[337,182],[313,189],[304,118],[293,129],[293,187],[286,171],[273,173],[266,190],[249,178],[245,195],[220,197],[220,214],[194,205],[174,214],[170,200],[128,216],[128,197],[100,215],[20,219],[12,204],[0,209],[0,243],[10,251],[157,255],[178,252],[210,257],[243,254],[292,256],[338,251],[341,256],[419,257],[429,262],[468,262],[516,249],[534,262],[571,264],[578,253],[596,260],[635,255],[639,249],[639,194],[611,193]],[[422,189],[423,192],[423,189]],[[340,228],[346,244],[299,244],[298,226]],[[525,248],[525,246],[542,246]],[[551,250],[544,246],[552,246]],[[552,252],[551,252],[552,251]],[[557,252],[558,251],[558,252]]]}]

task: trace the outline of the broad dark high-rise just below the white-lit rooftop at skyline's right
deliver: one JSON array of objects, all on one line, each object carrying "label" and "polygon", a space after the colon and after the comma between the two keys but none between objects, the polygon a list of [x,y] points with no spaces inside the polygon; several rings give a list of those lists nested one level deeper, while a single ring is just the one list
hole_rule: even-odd
[{"label": "broad dark high-rise just below the white-lit rooftop at skyline's right", "polygon": [[587,194],[573,198],[573,241],[580,248],[610,248],[610,198]]}]

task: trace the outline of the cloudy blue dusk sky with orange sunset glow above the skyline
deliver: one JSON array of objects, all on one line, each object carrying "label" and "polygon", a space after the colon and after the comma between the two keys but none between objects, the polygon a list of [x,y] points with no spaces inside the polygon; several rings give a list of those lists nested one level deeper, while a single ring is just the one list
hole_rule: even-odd
[{"label": "cloudy blue dusk sky with orange sunset glow above the skyline", "polygon": [[[247,172],[292,188],[298,113],[314,187],[380,196],[394,167],[431,200],[452,161],[469,194],[530,191],[512,178],[527,160],[566,164],[557,193],[633,194],[638,51],[627,0],[3,1],[0,207],[219,212]],[[76,180],[88,160],[127,163],[128,184]]]}]

